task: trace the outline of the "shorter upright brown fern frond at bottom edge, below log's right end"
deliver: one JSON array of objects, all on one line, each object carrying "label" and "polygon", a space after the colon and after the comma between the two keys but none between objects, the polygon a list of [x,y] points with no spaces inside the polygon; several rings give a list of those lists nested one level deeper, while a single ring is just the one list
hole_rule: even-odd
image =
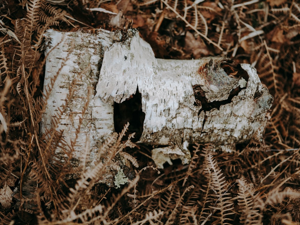
[{"label": "shorter upright brown fern frond at bottom edge, below log's right end", "polygon": [[237,180],[238,182],[238,205],[241,208],[241,223],[243,224],[261,224],[262,214],[259,208],[264,207],[264,203],[259,198],[258,194],[255,194],[253,184],[247,184],[247,180],[244,176]]}]

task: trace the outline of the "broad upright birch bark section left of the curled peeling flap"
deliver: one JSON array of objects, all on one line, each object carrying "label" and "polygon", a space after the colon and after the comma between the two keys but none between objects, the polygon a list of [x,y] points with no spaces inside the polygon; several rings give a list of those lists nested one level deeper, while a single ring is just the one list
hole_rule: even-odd
[{"label": "broad upright birch bark section left of the curled peeling flap", "polygon": [[[46,33],[46,67],[44,92],[57,76],[47,101],[46,112],[42,117],[41,133],[50,130],[54,125],[52,118],[64,108],[61,121],[56,130],[63,130],[63,139],[75,150],[74,158],[78,163],[84,158],[87,136],[90,152],[87,169],[94,167],[98,159],[98,150],[102,142],[114,131],[113,104],[105,104],[100,98],[93,98],[98,82],[99,67],[103,59],[104,47],[115,40],[120,40],[121,32],[101,32],[100,35],[85,32],[57,32],[48,30]],[[119,39],[118,39],[119,38]],[[69,54],[70,52],[70,54]],[[62,63],[64,62],[64,65]],[[76,88],[70,102],[65,100],[69,95],[72,82]],[[88,93],[88,90],[91,90]],[[90,95],[90,96],[89,96]],[[91,98],[85,114],[82,110]],[[79,122],[82,118],[82,123]],[[80,126],[80,132],[76,129]],[[76,133],[78,137],[76,137]],[[64,154],[57,148],[57,154]]]}]

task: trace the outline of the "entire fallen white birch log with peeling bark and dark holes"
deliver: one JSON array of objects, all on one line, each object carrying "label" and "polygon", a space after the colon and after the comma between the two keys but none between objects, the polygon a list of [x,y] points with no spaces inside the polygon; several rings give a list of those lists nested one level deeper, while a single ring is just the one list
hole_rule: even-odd
[{"label": "entire fallen white birch log with peeling bark and dark holes", "polygon": [[188,163],[187,146],[193,142],[214,143],[217,148],[232,151],[236,144],[253,136],[261,139],[273,98],[249,64],[233,68],[230,60],[223,57],[157,59],[150,45],[131,29],[125,34],[102,29],[93,33],[49,30],[45,85],[61,67],[72,41],[75,46],[48,100],[42,131],[51,127],[51,118],[57,107],[64,104],[74,78],[90,65],[81,74],[76,93],[58,127],[70,142],[79,126],[88,87],[93,87],[80,137],[74,145],[76,157],[80,158],[85,136],[89,136],[89,166],[94,165],[102,141],[114,131],[114,104],[126,103],[137,91],[145,113],[137,142],[167,146],[152,151],[159,168],[165,162],[172,164],[171,159]]}]

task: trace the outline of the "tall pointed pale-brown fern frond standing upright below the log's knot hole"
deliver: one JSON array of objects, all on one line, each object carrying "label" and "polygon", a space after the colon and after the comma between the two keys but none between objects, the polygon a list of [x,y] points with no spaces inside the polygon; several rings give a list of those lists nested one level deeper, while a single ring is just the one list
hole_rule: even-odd
[{"label": "tall pointed pale-brown fern frond standing upright below the log's knot hole", "polygon": [[213,194],[211,194],[211,196],[214,198],[214,204],[210,205],[209,207],[214,210],[220,211],[220,216],[216,217],[217,221],[215,221],[215,223],[230,224],[227,221],[232,220],[228,216],[234,214],[234,212],[230,212],[233,209],[233,207],[231,206],[234,203],[231,200],[231,194],[225,188],[226,186],[228,186],[228,184],[225,180],[225,176],[223,176],[221,169],[218,167],[217,161],[214,159],[212,152],[208,152],[206,160],[207,167],[211,171],[211,190],[213,190],[214,192]]}]

